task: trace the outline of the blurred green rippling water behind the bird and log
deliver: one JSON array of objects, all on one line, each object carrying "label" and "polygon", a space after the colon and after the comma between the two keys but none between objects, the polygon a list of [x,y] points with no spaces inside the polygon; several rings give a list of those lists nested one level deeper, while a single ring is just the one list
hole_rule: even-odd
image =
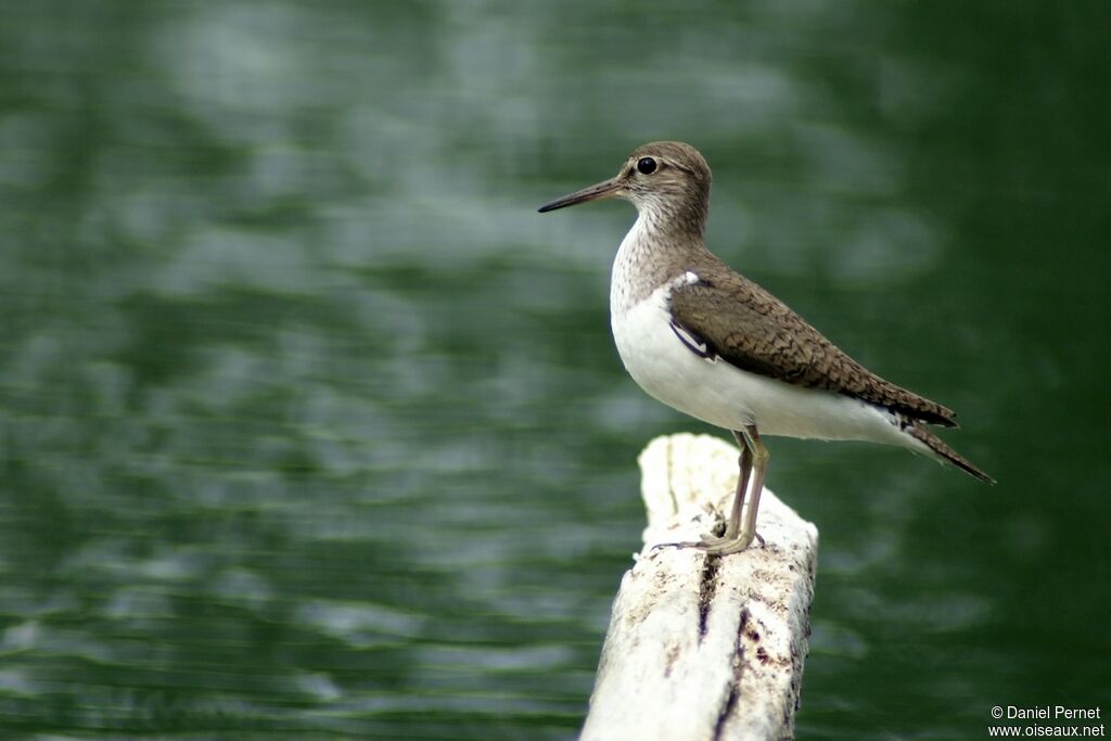
[{"label": "blurred green rippling water behind the bird and log", "polygon": [[3,737],[574,738],[635,457],[720,433],[612,348],[632,208],[536,208],[654,139],[999,480],[771,441],[799,737],[1107,702],[1108,10],[2,3]]}]

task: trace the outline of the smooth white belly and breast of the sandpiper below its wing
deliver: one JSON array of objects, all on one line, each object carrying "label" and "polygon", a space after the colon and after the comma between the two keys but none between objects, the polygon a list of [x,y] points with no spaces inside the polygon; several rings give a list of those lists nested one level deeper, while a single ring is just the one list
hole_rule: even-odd
[{"label": "smooth white belly and breast of the sandpiper below its wing", "polygon": [[730,430],[755,424],[762,434],[909,444],[885,410],[699,357],[670,327],[670,291],[663,286],[624,311],[614,307],[611,316],[625,370],[655,399]]}]

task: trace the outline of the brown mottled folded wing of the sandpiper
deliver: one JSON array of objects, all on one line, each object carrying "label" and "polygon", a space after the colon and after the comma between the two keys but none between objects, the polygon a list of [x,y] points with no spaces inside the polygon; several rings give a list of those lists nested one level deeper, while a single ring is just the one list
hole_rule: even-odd
[{"label": "brown mottled folded wing of the sandpiper", "polygon": [[672,292],[671,314],[730,364],[863,399],[924,422],[957,425],[952,411],[875,375],[743,276],[714,270],[704,279],[704,271],[692,272],[699,281]]}]

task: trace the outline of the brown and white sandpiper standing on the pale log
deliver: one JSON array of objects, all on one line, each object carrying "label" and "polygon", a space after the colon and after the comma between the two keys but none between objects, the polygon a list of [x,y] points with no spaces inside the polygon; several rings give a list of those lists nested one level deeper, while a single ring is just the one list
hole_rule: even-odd
[{"label": "brown and white sandpiper standing on the pale log", "polygon": [[633,150],[613,178],[540,207],[602,198],[637,207],[613,261],[610,326],[625,370],[644,391],[733,433],[741,449],[724,534],[679,543],[728,554],[757,535],[768,470],[761,435],[868,440],[987,473],[925,425],[957,427],[949,409],[890,383],[827,340],[703,242],[710,166],[690,144]]}]

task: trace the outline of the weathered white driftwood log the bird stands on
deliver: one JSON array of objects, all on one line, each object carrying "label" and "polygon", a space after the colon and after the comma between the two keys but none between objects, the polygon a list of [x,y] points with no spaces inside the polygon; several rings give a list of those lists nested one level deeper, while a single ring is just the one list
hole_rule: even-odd
[{"label": "weathered white driftwood log the bird stands on", "polygon": [[763,547],[654,548],[698,540],[729,511],[737,457],[691,434],[641,453],[644,549],[613,603],[583,741],[792,738],[818,529],[764,489]]}]

